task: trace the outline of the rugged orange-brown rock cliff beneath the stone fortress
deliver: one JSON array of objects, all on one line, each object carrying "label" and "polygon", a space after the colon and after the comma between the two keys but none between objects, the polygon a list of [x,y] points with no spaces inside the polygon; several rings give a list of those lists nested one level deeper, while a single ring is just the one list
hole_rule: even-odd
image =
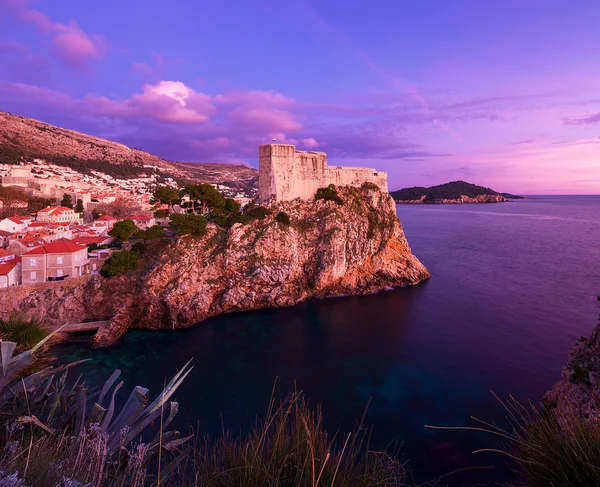
[{"label": "rugged orange-brown rock cliff beneath the stone fortress", "polygon": [[[411,253],[389,194],[357,188],[339,194],[343,204],[279,203],[262,220],[229,229],[209,224],[201,238],[165,244],[135,276],[35,291],[19,307],[48,310],[56,324],[67,315],[113,315],[95,337],[104,346],[129,328],[188,327],[222,313],[374,293],[429,277]],[[289,215],[289,225],[275,221],[279,212]]]}]

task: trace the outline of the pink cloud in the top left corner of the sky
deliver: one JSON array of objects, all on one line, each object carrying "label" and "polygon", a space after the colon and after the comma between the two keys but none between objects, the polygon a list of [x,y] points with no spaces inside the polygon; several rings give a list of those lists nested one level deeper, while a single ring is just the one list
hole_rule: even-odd
[{"label": "pink cloud in the top left corner of the sky", "polygon": [[29,8],[27,0],[0,0],[1,5],[23,23],[33,25],[50,37],[50,50],[66,66],[76,70],[89,69],[90,61],[106,54],[106,42],[100,36],[88,35],[70,21],[68,25],[55,23],[46,14]]}]

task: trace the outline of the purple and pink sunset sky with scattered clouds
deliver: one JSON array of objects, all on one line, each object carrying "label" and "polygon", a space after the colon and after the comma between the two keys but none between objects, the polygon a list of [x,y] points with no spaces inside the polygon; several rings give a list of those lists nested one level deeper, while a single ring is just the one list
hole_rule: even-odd
[{"label": "purple and pink sunset sky with scattered clouds", "polygon": [[0,0],[0,110],[181,161],[276,137],[391,189],[600,194],[600,1]]}]

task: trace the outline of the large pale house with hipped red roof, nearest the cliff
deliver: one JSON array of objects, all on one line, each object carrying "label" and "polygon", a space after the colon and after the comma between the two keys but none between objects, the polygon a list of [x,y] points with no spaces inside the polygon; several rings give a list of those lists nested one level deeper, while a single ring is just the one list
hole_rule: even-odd
[{"label": "large pale house with hipped red roof, nearest the cliff", "polygon": [[90,273],[85,245],[56,240],[22,255],[23,284],[62,280]]}]

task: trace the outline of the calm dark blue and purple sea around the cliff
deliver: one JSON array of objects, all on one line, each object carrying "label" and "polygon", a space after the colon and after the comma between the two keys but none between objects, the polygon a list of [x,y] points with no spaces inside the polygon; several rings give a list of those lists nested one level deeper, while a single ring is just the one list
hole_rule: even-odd
[{"label": "calm dark blue and purple sea around the cliff", "polygon": [[[569,346],[597,322],[600,197],[544,197],[494,205],[399,206],[413,252],[432,278],[367,297],[221,316],[182,332],[130,332],[109,350],[57,349],[100,384],[115,367],[128,389],[158,393],[189,358],[178,425],[245,431],[273,383],[322,402],[331,430],[367,421],[378,446],[403,443],[415,479],[440,485],[506,478],[504,459],[472,455],[497,440],[430,425],[504,423],[490,391],[537,402],[560,375]],[[294,382],[295,381],[295,382]],[[129,391],[127,391],[127,394]],[[125,395],[125,393],[123,393]]]}]

